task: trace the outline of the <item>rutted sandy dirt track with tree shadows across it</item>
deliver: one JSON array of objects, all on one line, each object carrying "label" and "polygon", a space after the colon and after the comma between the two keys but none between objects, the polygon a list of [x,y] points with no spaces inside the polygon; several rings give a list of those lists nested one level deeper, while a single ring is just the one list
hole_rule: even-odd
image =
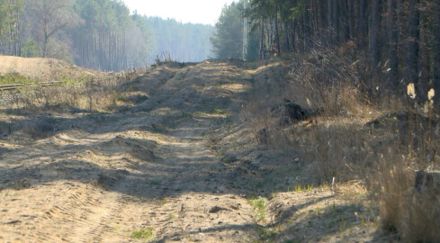
[{"label": "rutted sandy dirt track with tree shadows across it", "polygon": [[280,235],[295,213],[335,207],[329,191],[280,193],[258,214],[252,169],[211,149],[240,134],[236,118],[260,71],[157,68],[130,84],[149,99],[129,111],[55,117],[46,139],[0,140],[0,242],[257,242]]}]

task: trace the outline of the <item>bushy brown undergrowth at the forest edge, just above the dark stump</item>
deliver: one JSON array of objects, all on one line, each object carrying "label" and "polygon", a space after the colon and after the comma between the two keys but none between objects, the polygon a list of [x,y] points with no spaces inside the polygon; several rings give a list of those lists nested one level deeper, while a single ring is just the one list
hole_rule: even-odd
[{"label": "bushy brown undergrowth at the forest edge, just above the dark stump", "polygon": [[332,50],[295,59],[284,95],[324,116],[354,116],[370,112],[362,75],[355,58],[341,58]]}]

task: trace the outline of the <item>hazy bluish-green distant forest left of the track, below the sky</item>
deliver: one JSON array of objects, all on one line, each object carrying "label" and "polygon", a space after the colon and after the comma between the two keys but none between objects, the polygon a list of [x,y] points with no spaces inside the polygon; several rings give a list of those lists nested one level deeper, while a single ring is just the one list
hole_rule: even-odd
[{"label": "hazy bluish-green distant forest left of the track, below the sky", "polygon": [[168,53],[211,54],[210,25],[130,14],[121,0],[0,0],[0,53],[60,58],[99,70],[145,67]]}]

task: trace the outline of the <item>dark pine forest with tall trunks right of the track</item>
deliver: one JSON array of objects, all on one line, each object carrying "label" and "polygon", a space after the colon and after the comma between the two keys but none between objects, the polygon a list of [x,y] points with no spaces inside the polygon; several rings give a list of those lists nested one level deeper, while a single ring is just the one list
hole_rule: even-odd
[{"label": "dark pine forest with tall trunks right of the track", "polygon": [[440,0],[248,0],[246,12],[243,2],[225,7],[216,25],[220,57],[241,58],[246,15],[252,58],[351,47],[369,94],[409,83],[424,97],[440,93]]}]

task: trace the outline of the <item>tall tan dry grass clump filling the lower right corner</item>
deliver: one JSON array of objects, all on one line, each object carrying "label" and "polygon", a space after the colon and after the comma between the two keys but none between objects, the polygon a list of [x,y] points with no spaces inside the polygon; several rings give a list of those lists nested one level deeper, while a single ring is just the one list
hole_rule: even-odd
[{"label": "tall tan dry grass clump filling the lower right corner", "polygon": [[[417,107],[417,104],[416,104]],[[382,229],[407,242],[440,241],[440,176],[416,187],[416,171],[438,172],[438,120],[409,107],[406,124],[396,133],[398,142],[384,144],[388,153],[373,176],[381,208]],[[436,173],[434,174],[436,175]]]}]

